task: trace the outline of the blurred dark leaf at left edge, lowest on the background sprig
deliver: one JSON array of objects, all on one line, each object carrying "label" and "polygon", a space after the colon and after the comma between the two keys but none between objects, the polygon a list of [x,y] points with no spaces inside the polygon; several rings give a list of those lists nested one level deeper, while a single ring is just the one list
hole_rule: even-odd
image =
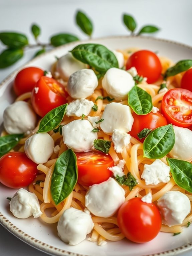
[{"label": "blurred dark leaf at left edge, lowest on the background sprig", "polygon": [[7,68],[23,57],[23,49],[7,49],[0,54],[0,69]]}]

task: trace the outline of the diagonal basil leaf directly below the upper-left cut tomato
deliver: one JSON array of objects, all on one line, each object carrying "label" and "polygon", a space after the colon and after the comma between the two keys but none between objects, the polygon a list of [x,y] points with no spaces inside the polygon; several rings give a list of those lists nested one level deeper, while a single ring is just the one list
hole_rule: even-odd
[{"label": "diagonal basil leaf directly below the upper-left cut tomato", "polygon": [[63,120],[67,104],[61,105],[49,111],[41,120],[37,132],[49,132],[57,127]]}]

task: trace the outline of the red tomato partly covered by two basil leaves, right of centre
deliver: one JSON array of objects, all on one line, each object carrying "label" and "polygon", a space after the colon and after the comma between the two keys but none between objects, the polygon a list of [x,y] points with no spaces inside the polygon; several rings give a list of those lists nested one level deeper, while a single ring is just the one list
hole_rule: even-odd
[{"label": "red tomato partly covered by two basil leaves, right of centre", "polygon": [[154,130],[160,126],[167,125],[167,120],[159,112],[157,113],[150,112],[147,115],[137,115],[134,112],[132,113],[132,116],[134,118],[134,122],[129,134],[141,142],[143,142],[145,138],[140,140],[137,134],[140,131],[142,131],[144,128]]}]

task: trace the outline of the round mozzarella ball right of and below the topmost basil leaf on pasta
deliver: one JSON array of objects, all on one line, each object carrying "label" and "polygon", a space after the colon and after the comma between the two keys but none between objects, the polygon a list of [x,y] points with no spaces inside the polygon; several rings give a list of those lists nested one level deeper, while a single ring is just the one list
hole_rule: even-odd
[{"label": "round mozzarella ball right of and below the topmost basil leaf on pasta", "polygon": [[102,80],[103,89],[117,101],[127,99],[134,86],[133,77],[127,71],[117,68],[109,69]]}]

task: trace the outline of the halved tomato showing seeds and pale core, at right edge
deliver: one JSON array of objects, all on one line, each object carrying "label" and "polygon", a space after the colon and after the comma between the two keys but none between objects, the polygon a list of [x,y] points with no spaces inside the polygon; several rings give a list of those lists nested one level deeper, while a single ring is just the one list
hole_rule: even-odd
[{"label": "halved tomato showing seeds and pale core, at right edge", "polygon": [[192,125],[192,92],[182,88],[171,89],[163,96],[162,114],[169,123],[179,127]]}]

